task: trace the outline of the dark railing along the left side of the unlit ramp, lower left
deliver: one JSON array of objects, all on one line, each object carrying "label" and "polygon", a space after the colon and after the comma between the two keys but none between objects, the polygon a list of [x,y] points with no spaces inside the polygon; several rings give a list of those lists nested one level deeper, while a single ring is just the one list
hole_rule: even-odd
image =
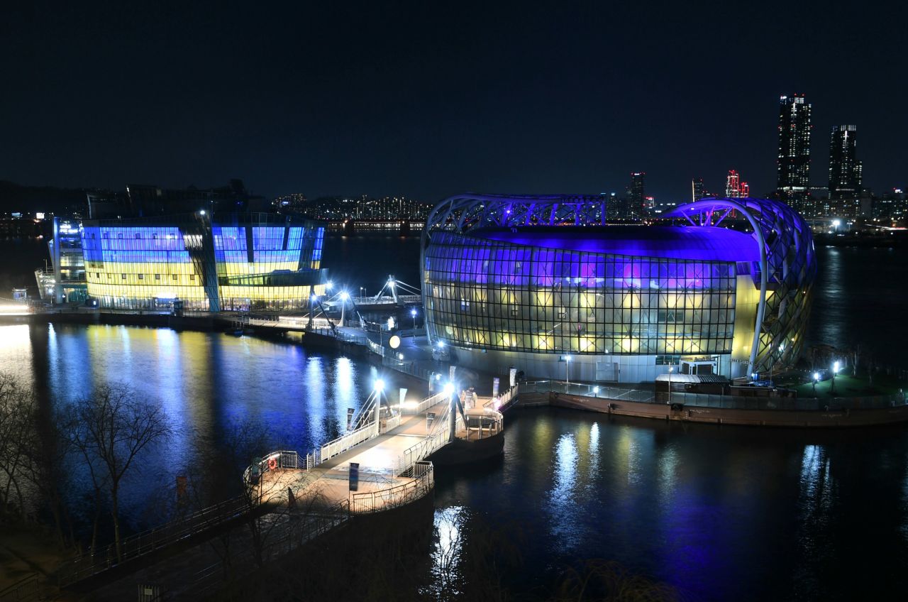
[{"label": "dark railing along the left side of the unlit ramp, lower left", "polygon": [[[295,453],[295,452],[294,452]],[[115,544],[95,550],[94,554],[85,554],[64,562],[57,570],[57,582],[61,587],[71,585],[84,578],[101,573],[127,560],[141,557],[154,550],[171,546],[186,537],[197,535],[218,525],[240,517],[249,512],[246,499],[233,497],[220,504],[203,508],[189,517],[174,520],[161,527],[154,527],[121,542],[121,557],[118,559]]]}]

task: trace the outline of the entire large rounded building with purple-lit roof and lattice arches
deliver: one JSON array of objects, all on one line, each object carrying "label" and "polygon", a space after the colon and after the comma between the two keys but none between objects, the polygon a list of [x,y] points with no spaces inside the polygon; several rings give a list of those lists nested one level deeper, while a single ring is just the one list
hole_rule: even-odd
[{"label": "entire large rounded building with purple-lit roof and lattice arches", "polygon": [[795,211],[706,199],[668,212],[674,223],[607,226],[601,202],[436,206],[420,258],[429,337],[459,365],[585,381],[653,380],[682,358],[732,377],[795,359],[816,271]]}]

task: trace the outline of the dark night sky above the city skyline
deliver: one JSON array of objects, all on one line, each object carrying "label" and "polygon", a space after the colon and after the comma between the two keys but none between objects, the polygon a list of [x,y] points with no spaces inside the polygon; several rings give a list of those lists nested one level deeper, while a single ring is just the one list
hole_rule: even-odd
[{"label": "dark night sky above the city skyline", "polygon": [[[101,7],[104,5],[104,7]],[[266,196],[775,187],[778,96],[908,186],[908,10],[872,3],[22,2],[0,19],[0,179]],[[325,7],[322,5],[334,5]]]}]

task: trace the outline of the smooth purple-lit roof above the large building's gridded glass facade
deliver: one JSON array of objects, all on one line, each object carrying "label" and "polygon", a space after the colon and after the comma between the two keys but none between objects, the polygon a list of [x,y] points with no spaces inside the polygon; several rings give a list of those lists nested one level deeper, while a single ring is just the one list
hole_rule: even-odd
[{"label": "smooth purple-lit roof above the large building's gridded glass facade", "polygon": [[588,253],[714,261],[760,260],[759,247],[753,236],[723,227],[529,226],[518,228],[517,232],[509,228],[483,228],[471,231],[469,236]]}]

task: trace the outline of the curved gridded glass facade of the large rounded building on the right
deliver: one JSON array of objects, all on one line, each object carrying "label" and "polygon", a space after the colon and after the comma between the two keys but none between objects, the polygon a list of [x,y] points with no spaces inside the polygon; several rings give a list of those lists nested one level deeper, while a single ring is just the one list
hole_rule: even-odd
[{"label": "curved gridded glass facade of the large rounded building on the right", "polygon": [[617,256],[432,235],[429,334],[456,346],[569,354],[725,354],[734,262]]}]

